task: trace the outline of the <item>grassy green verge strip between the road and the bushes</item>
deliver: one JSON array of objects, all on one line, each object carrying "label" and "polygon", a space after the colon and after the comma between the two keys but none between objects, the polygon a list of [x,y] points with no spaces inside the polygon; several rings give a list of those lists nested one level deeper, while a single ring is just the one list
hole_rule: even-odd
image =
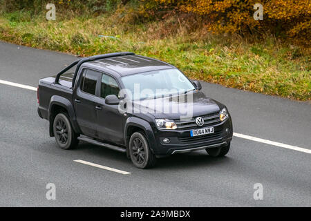
[{"label": "grassy green verge strip between the road and the bushes", "polygon": [[310,50],[273,37],[249,43],[237,35],[189,32],[172,23],[176,21],[135,24],[117,13],[46,21],[44,15],[14,12],[0,15],[0,39],[80,56],[132,51],[167,61],[193,79],[311,100]]}]

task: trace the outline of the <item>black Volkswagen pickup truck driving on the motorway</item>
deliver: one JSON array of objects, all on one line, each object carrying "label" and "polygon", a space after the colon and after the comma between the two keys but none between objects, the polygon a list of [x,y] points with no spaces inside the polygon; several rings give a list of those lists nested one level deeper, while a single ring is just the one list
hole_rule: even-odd
[{"label": "black Volkswagen pickup truck driving on the motorway", "polygon": [[[70,72],[73,70],[73,72]],[[69,149],[79,140],[126,153],[138,168],[174,153],[228,153],[232,119],[178,68],[117,52],[74,61],[39,80],[39,117],[50,137]]]}]

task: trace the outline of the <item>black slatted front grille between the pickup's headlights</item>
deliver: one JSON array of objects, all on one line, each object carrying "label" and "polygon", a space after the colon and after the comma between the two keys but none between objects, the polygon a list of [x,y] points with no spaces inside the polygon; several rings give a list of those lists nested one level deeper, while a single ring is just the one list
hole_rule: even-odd
[{"label": "black slatted front grille between the pickup's headlights", "polygon": [[[204,125],[203,126],[207,126],[210,124],[215,124],[220,122],[219,119],[219,113],[218,112],[214,112],[208,115],[203,115],[200,116],[204,119]],[[192,117],[191,119],[187,120],[187,121],[175,121],[177,128],[178,129],[192,129],[192,128],[199,128],[198,125],[196,124],[196,117]]]}]

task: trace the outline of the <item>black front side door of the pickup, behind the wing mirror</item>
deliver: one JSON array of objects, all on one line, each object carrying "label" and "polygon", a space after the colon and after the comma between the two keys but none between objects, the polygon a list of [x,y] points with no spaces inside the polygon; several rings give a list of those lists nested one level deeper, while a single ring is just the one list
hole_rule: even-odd
[{"label": "black front side door of the pickup, behind the wing mirror", "polygon": [[118,96],[120,87],[117,80],[110,75],[102,74],[100,96],[95,102],[97,108],[97,132],[101,140],[124,144],[124,123],[126,117],[119,112],[118,105],[105,104],[108,95]]}]

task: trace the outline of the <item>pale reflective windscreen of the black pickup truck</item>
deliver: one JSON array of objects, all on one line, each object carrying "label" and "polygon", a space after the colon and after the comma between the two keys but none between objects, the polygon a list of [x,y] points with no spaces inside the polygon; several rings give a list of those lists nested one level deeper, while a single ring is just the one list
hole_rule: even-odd
[{"label": "pale reflective windscreen of the black pickup truck", "polygon": [[176,68],[129,75],[121,80],[129,99],[167,97],[195,90],[189,79]]}]

